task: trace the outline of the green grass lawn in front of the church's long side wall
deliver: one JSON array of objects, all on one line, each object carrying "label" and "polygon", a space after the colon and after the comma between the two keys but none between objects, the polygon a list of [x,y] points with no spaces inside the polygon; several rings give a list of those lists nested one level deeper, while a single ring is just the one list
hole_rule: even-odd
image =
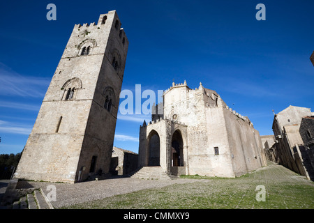
[{"label": "green grass lawn in front of the church's long side wall", "polygon": [[[200,180],[64,208],[314,208],[314,183],[276,164],[238,178],[182,177]],[[257,185],[264,187],[265,201],[256,200]]]}]

